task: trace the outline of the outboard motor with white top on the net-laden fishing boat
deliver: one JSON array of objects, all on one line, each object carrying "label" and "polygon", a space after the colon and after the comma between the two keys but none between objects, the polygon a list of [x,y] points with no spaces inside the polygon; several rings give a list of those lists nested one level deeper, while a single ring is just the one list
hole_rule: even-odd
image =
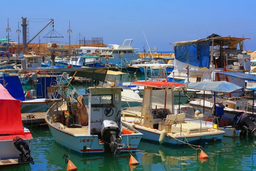
[{"label": "outboard motor with white top on the net-laden fishing boat", "polygon": [[120,129],[116,122],[112,120],[104,120],[101,129],[102,140],[105,142],[105,152],[113,153],[115,156],[120,153],[120,149],[124,147],[119,138]]}]

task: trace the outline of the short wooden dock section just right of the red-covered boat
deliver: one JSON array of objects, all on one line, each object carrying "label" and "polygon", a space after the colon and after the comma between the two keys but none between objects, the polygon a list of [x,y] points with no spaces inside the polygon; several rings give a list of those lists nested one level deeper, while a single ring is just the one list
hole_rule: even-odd
[{"label": "short wooden dock section just right of the red-covered boat", "polygon": [[44,117],[46,112],[34,112],[21,114],[22,123],[45,123]]}]

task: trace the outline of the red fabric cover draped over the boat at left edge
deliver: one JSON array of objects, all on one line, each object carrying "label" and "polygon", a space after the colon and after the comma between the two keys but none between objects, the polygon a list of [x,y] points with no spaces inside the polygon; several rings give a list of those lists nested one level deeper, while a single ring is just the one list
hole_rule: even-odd
[{"label": "red fabric cover draped over the boat at left edge", "polygon": [[0,84],[0,110],[0,134],[24,134],[20,100],[13,98],[2,84]]}]

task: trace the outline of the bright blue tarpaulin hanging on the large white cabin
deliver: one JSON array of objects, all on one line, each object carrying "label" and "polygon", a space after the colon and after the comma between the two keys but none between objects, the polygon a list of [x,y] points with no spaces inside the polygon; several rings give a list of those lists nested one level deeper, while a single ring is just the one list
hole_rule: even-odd
[{"label": "bright blue tarpaulin hanging on the large white cabin", "polygon": [[210,41],[197,41],[182,46],[175,46],[175,59],[192,66],[207,67],[210,65]]}]

